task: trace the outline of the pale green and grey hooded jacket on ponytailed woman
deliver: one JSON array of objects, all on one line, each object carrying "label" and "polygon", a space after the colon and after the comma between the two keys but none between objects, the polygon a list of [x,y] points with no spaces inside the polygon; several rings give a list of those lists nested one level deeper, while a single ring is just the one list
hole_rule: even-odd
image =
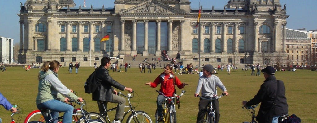
[{"label": "pale green and grey hooded jacket on ponytailed woman", "polygon": [[64,101],[63,96],[69,98],[71,101],[76,101],[78,99],[74,93],[70,92],[70,90],[61,83],[57,73],[54,71],[40,71],[39,79],[36,105],[52,99]]}]

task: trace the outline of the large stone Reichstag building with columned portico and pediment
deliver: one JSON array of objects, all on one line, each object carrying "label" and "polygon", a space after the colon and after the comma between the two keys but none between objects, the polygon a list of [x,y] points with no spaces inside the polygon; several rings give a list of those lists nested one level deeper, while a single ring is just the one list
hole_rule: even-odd
[{"label": "large stone Reichstag building with columned portico and pediment", "polygon": [[[214,0],[222,1],[222,0]],[[102,2],[102,1],[100,1]],[[193,2],[193,1],[191,1]],[[19,62],[61,62],[100,55],[180,54],[181,59],[272,64],[284,58],[286,6],[280,0],[230,0],[192,9],[189,0],[114,0],[114,7],[73,0],[21,3]],[[79,4],[79,3],[77,3]],[[198,23],[197,23],[198,22]],[[109,35],[109,40],[100,42]]]}]

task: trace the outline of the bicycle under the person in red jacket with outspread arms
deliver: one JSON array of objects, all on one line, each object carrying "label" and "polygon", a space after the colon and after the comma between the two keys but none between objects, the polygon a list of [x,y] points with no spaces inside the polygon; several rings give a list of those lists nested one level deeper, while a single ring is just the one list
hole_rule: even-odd
[{"label": "bicycle under the person in red jacket with outspread arms", "polygon": [[[184,93],[186,91],[182,91],[181,95],[177,95],[177,94],[174,94],[174,97],[167,97],[165,96],[162,92],[156,90],[156,92],[159,92],[162,96],[165,97],[165,103],[164,103],[164,109],[163,109],[163,120],[165,123],[171,123],[173,122],[173,116],[171,115],[172,112],[176,112],[176,109],[175,109],[175,99],[177,99],[177,103],[179,103],[179,98],[181,96],[184,95]],[[179,108],[179,107],[178,107]],[[168,109],[168,111],[167,111]],[[168,118],[168,120],[166,120]],[[176,118],[176,115],[175,115],[175,118]],[[158,120],[158,119],[156,119]]]}]

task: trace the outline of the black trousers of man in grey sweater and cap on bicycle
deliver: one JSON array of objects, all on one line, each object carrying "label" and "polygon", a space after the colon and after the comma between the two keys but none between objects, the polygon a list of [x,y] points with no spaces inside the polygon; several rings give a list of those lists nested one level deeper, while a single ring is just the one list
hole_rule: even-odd
[{"label": "black trousers of man in grey sweater and cap on bicycle", "polygon": [[207,108],[210,101],[212,101],[212,108],[215,110],[216,123],[219,122],[219,119],[220,119],[219,101],[217,99],[216,100],[200,99],[198,104],[199,109],[198,109],[196,123],[201,123],[201,121],[205,119]]}]

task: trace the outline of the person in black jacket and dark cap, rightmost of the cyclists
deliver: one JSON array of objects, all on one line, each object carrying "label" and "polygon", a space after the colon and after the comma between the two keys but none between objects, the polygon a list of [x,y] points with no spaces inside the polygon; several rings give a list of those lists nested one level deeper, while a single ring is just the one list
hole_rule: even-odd
[{"label": "person in black jacket and dark cap, rightmost of the cyclists", "polygon": [[261,103],[256,120],[259,123],[278,123],[278,118],[288,113],[284,83],[276,80],[275,70],[271,66],[262,69],[261,72],[265,80],[260,90],[253,99],[243,101],[242,104],[252,106]]}]

